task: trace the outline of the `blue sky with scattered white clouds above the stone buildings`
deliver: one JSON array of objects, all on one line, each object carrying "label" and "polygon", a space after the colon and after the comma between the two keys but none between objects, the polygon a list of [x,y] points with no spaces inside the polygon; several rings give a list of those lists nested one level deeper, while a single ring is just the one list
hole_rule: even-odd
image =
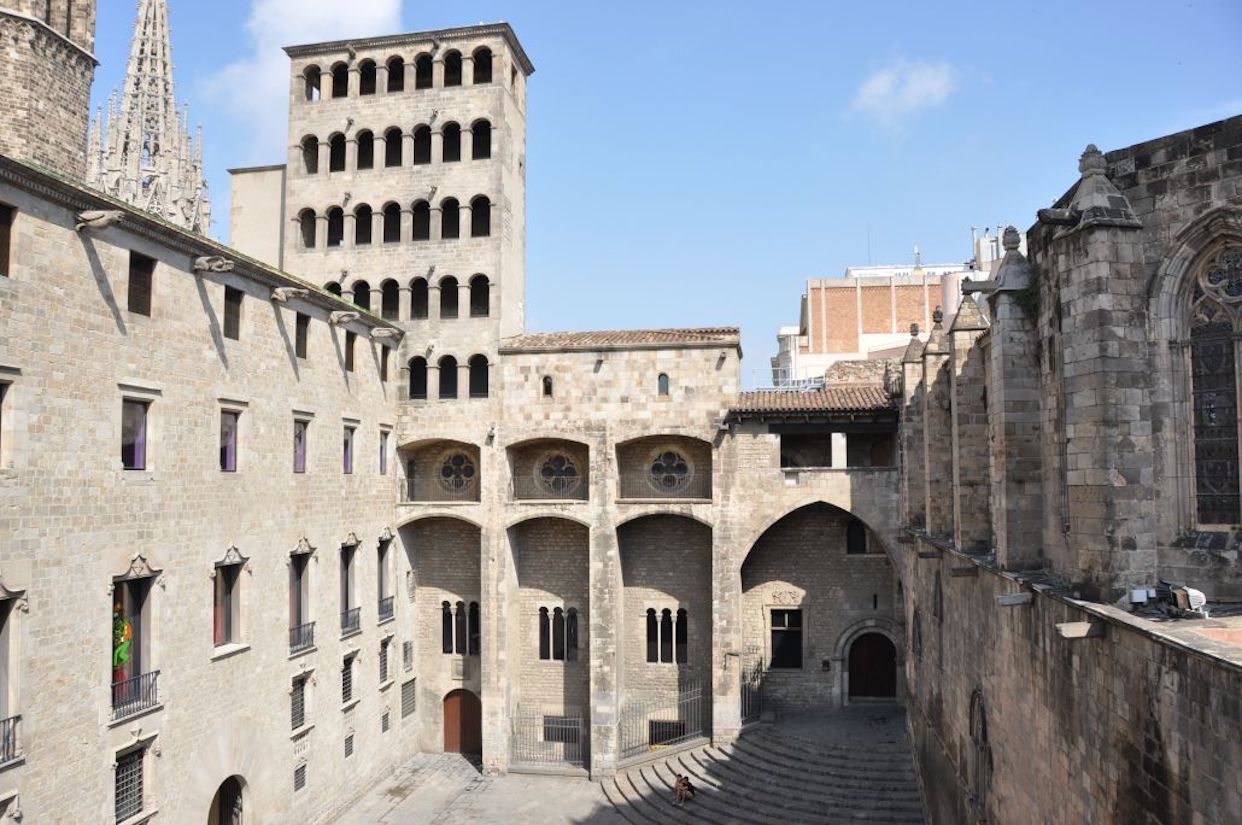
[{"label": "blue sky with scattered white clouds above the stone buildings", "polygon": [[[99,0],[94,97],[133,0]],[[1242,2],[169,0],[178,97],[230,166],[284,160],[279,43],[508,20],[529,84],[533,330],[740,324],[748,383],[807,277],[970,256],[1077,157],[1242,113]],[[869,256],[868,256],[869,235]]]}]

